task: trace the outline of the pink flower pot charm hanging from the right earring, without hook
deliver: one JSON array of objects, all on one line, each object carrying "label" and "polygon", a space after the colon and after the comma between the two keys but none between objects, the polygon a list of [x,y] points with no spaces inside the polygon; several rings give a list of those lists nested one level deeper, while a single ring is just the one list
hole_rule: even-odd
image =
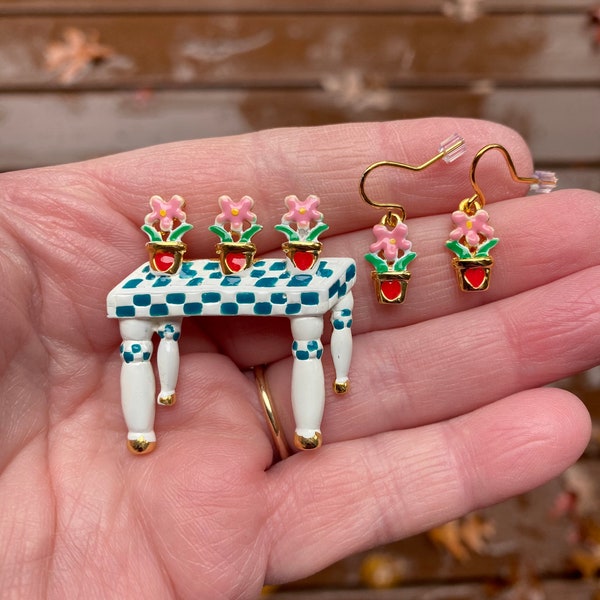
[{"label": "pink flower pot charm hanging from the right earring, without hook", "polygon": [[[472,206],[471,206],[472,204]],[[488,225],[490,216],[476,200],[463,200],[452,213],[456,226],[446,246],[456,255],[452,265],[463,292],[482,292],[490,285],[494,259],[490,250],[500,241]]]}]

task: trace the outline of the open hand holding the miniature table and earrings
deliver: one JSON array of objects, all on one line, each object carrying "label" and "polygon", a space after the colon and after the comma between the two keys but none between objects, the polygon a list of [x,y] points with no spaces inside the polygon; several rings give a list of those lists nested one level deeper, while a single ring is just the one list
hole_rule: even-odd
[{"label": "open hand holding the miniature table and earrings", "polygon": [[[418,258],[402,306],[377,304],[362,255],[382,211],[358,195],[370,163],[418,164],[454,132],[468,152],[422,173],[377,172]],[[0,589],[7,598],[254,598],[343,556],[415,534],[556,476],[589,416],[542,387],[598,363],[600,198],[523,198],[502,157],[481,161],[500,238],[489,291],[458,290],[444,242],[487,143],[528,175],[514,132],[430,119],[189,141],[0,176]],[[178,403],[133,456],[108,291],[146,260],[153,194],[182,195],[192,258],[214,256],[217,198],[252,196],[262,255],[289,194],[321,197],[326,256],[355,258],[352,388],[328,392],[325,445],[277,462],[249,368],[265,363],[288,439],[286,319],[186,319]],[[268,329],[265,330],[265,325]],[[328,340],[328,333],[324,342]],[[332,380],[325,352],[325,375]]]}]

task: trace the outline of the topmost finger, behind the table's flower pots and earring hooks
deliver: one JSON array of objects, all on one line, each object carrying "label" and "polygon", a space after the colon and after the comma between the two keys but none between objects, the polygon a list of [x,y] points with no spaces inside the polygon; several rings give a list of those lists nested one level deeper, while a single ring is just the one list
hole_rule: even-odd
[{"label": "topmost finger, behind the table's flower pots and earring hooks", "polygon": [[[445,211],[447,198],[458,202],[473,193],[469,184],[471,158],[491,141],[504,144],[519,171],[529,174],[529,151],[514,131],[475,120],[423,119],[362,123],[316,128],[281,129],[211,140],[181,142],[108,157],[84,166],[101,183],[104,195],[119,214],[139,226],[152,194],[182,195],[195,230],[186,241],[200,256],[212,256],[216,238],[206,233],[218,213],[217,198],[252,196],[264,230],[257,237],[266,252],[281,244],[273,231],[285,212],[288,194],[321,197],[329,235],[353,231],[373,219],[373,209],[359,196],[364,169],[383,159],[420,164],[438,151],[444,138],[458,132],[468,152],[449,167],[441,161],[415,174],[395,169],[369,181],[373,197],[407,204],[413,216]],[[491,153],[478,169],[478,183],[494,182],[494,199],[518,195],[501,156]],[[454,200],[453,200],[454,201]]]}]

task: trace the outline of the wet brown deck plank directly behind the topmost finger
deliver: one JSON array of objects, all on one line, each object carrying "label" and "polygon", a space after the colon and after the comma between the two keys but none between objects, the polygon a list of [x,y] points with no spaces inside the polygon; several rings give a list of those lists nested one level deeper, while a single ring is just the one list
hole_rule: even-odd
[{"label": "wet brown deck plank directly behind the topmost finger", "polygon": [[[137,91],[0,94],[0,169],[94,158],[181,139],[268,127],[476,117],[519,130],[538,165],[600,169],[600,90]],[[49,118],[51,115],[51,118]]]}]

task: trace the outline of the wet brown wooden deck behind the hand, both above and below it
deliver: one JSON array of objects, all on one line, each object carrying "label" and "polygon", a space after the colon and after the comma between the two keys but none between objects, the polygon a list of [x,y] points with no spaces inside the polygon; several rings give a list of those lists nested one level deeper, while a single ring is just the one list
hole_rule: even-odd
[{"label": "wet brown wooden deck behind the hand, both above and below it", "polygon": [[[0,0],[0,170],[268,127],[449,115],[514,127],[562,187],[600,191],[594,6]],[[97,36],[109,56],[71,76],[52,70],[48,51],[69,30]],[[423,534],[269,590],[271,597],[598,600],[600,377],[593,371],[561,385],[590,407],[588,452],[562,477],[476,515],[471,534],[489,533],[477,550],[458,558]]]}]

